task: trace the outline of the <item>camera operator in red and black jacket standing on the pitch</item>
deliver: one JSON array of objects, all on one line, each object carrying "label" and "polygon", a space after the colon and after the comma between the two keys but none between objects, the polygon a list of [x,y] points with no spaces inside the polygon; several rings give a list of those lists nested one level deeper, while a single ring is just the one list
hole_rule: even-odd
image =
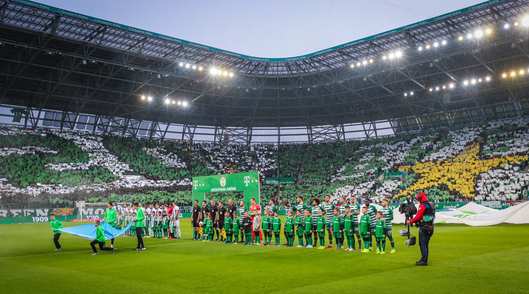
[{"label": "camera operator in red and black jacket standing on the pitch", "polygon": [[417,212],[417,215],[408,222],[408,224],[417,223],[419,225],[419,247],[421,249],[422,258],[420,261],[417,261],[415,265],[427,266],[429,239],[434,234],[435,205],[434,202],[428,200],[424,192],[417,194],[415,199],[420,202],[419,211]]}]

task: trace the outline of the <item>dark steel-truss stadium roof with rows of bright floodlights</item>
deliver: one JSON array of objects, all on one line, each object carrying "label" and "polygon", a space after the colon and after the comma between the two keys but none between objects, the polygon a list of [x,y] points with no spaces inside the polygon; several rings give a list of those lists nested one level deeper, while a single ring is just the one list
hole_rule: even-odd
[{"label": "dark steel-truss stadium roof with rows of bright floodlights", "polygon": [[246,129],[390,121],[398,132],[527,115],[528,8],[487,1],[309,55],[254,58],[0,0],[0,104]]}]

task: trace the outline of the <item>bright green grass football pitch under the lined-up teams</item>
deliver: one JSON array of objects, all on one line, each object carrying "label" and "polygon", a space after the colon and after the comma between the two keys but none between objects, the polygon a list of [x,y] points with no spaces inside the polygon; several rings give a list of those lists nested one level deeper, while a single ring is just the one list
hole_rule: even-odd
[{"label": "bright green grass football pitch under the lined-up teams", "polygon": [[[181,229],[191,237],[189,219]],[[90,240],[70,234],[53,251],[49,224],[1,224],[0,282],[3,293],[415,293],[420,284],[431,293],[527,293],[528,236],[528,225],[439,224],[429,266],[419,267],[419,246],[401,236],[397,253],[382,256],[191,239],[145,239],[146,251],[132,251],[136,239],[126,236],[115,255],[92,256]]]}]

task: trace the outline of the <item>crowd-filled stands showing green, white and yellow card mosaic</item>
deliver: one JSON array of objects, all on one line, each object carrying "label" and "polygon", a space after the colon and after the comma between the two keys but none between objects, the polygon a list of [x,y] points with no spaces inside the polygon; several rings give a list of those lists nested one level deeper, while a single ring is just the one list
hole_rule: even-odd
[{"label": "crowd-filled stands showing green, white and yellow card mosaic", "polygon": [[37,199],[28,195],[53,203],[98,201],[110,194],[119,201],[141,195],[189,203],[193,176],[260,170],[264,180],[277,177],[279,165],[281,178],[294,178],[294,183],[282,185],[277,195],[277,185],[263,181],[262,201],[328,194],[335,202],[347,195],[380,202],[417,191],[434,200],[517,200],[529,185],[528,141],[528,118],[365,141],[289,143],[279,149],[5,126],[0,129],[0,195],[4,203]]}]

